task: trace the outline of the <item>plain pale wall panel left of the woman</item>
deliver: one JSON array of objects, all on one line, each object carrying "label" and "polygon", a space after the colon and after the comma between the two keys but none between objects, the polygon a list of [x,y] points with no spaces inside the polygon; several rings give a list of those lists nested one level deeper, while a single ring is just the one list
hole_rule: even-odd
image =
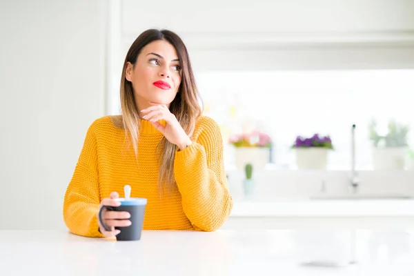
[{"label": "plain pale wall panel left of the woman", "polygon": [[0,229],[65,228],[66,186],[104,115],[104,3],[1,3]]}]

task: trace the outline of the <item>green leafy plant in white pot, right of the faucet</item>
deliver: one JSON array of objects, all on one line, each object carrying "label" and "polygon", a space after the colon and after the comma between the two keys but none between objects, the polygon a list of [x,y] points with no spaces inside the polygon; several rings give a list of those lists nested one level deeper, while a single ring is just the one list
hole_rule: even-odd
[{"label": "green leafy plant in white pot, right of the faucet", "polygon": [[408,126],[391,119],[388,121],[387,132],[380,135],[377,132],[377,121],[371,119],[368,130],[373,143],[374,170],[404,169],[408,152]]}]

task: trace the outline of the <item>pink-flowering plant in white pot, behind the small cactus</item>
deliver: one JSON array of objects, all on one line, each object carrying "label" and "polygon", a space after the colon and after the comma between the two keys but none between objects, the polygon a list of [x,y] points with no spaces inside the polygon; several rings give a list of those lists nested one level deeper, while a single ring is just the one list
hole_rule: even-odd
[{"label": "pink-flowering plant in white pot, behind the small cactus", "polygon": [[235,164],[242,170],[246,164],[262,169],[269,161],[272,141],[264,132],[253,131],[230,137],[230,144],[235,146]]}]

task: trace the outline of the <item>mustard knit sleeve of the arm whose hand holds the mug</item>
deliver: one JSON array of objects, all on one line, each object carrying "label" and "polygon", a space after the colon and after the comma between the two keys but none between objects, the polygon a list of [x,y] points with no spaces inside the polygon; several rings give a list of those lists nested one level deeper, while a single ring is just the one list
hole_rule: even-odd
[{"label": "mustard knit sleeve of the arm whose hand holds the mug", "polygon": [[[92,125],[93,126],[93,125]],[[97,212],[100,195],[97,166],[97,139],[92,126],[66,189],[63,201],[63,219],[69,230],[86,237],[103,237],[99,232]]]}]

